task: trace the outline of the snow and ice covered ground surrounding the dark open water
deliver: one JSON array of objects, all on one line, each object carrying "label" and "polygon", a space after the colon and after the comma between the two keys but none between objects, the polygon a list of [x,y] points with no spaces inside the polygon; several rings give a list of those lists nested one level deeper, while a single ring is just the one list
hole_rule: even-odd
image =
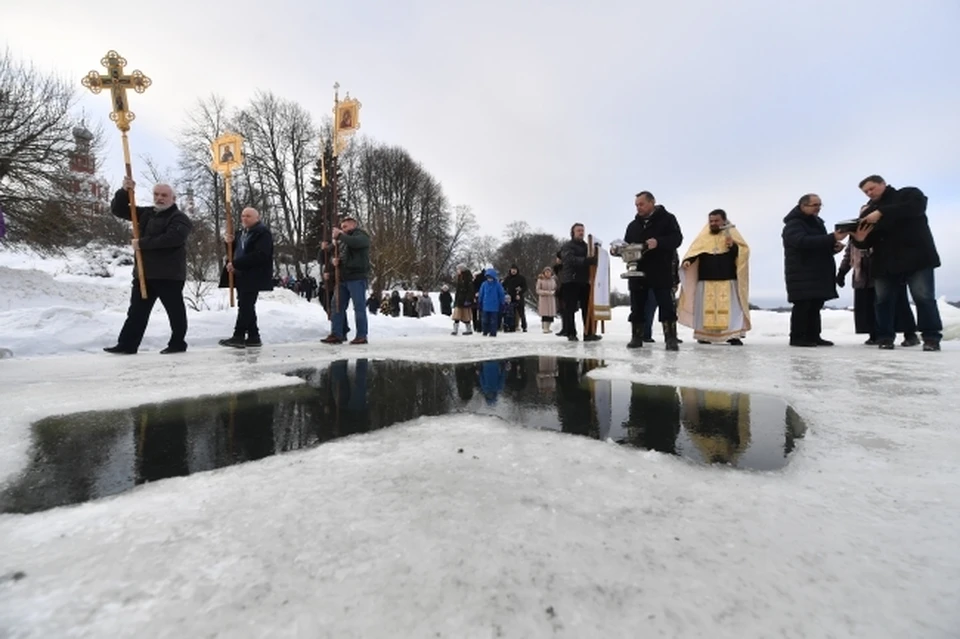
[{"label": "snow and ice covered ground surrounding the dark open water", "polygon": [[[92,251],[94,252],[94,251]],[[259,352],[217,347],[222,293],[190,350],[113,344],[129,266],[0,251],[0,482],[29,425],[300,383],[338,358],[590,356],[596,377],[790,401],[809,430],[776,472],[702,467],[484,417],[424,418],[316,449],[0,515],[0,636],[956,637],[960,634],[960,344],[880,352],[851,314],[832,349],[786,346],[757,312],[743,348],[631,352],[623,309],[602,342],[449,335],[446,318],[371,318],[368,346],[326,347],[319,306],[275,292]],[[116,261],[97,257],[94,262]],[[109,268],[107,269],[110,270]],[[948,336],[960,311],[941,305]],[[659,335],[657,336],[659,339]],[[458,449],[467,454],[457,454]],[[18,574],[22,573],[22,574]]]}]

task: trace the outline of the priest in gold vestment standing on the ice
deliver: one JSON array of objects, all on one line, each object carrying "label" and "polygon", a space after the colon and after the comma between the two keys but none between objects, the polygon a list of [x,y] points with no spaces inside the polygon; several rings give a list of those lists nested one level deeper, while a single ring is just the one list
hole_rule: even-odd
[{"label": "priest in gold vestment standing on the ice", "polygon": [[711,211],[680,265],[677,321],[692,328],[699,343],[743,344],[750,330],[749,259],[750,247],[726,211]]}]

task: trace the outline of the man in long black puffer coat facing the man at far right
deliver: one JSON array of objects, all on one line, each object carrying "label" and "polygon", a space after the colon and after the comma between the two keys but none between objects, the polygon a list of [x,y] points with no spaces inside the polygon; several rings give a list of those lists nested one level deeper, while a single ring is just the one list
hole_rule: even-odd
[{"label": "man in long black puffer coat facing the man at far right", "polygon": [[820,219],[820,196],[808,193],[783,218],[783,278],[790,313],[790,346],[833,346],[820,336],[820,311],[836,299],[837,263],[846,233],[827,233]]}]

